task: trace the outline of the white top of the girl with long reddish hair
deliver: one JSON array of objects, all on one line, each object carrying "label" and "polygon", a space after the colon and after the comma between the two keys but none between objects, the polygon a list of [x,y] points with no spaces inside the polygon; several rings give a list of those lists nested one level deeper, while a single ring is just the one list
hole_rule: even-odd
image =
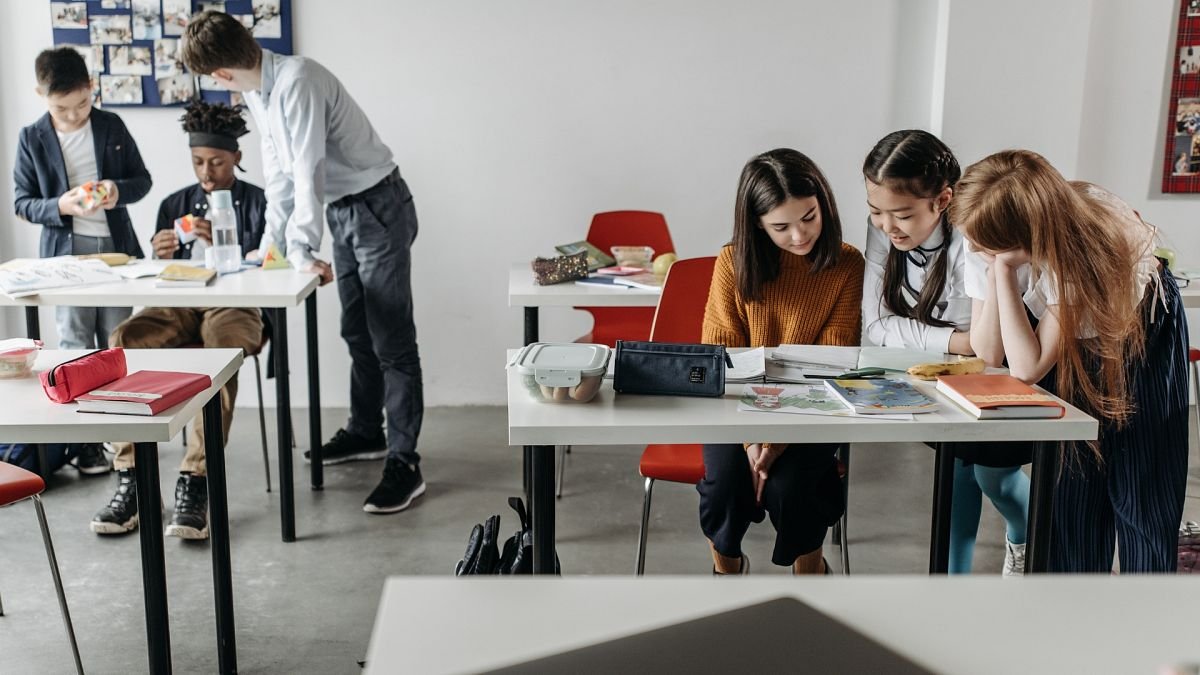
[{"label": "white top of the girl with long reddish hair", "polygon": [[[1142,221],[1138,213],[1129,207],[1129,204],[1124,203],[1120,197],[1102,187],[1090,185],[1087,187],[1087,196],[1092,199],[1102,202],[1126,222],[1124,233],[1130,238],[1135,249],[1139,251],[1138,262],[1134,264],[1136,283],[1134,285],[1133,295],[1129,298],[1132,306],[1136,307],[1141,304],[1141,299],[1146,294],[1146,286],[1158,279],[1158,259],[1154,257],[1154,246],[1157,245],[1154,228]],[[978,300],[984,300],[988,297],[988,263],[982,256],[979,256],[979,253],[972,250],[970,245],[966,243],[964,244],[967,259],[967,295]],[[1039,270],[1039,274],[1036,275],[1037,279],[1032,279],[1033,276],[1032,264],[1026,263],[1018,268],[1016,289],[1021,292],[1021,299],[1025,300],[1025,306],[1030,309],[1030,312],[1032,312],[1038,321],[1040,321],[1042,317],[1045,316],[1046,309],[1058,304],[1058,283],[1055,280],[1054,274],[1049,270]],[[1096,336],[1096,331],[1085,327],[1079,336],[1093,338]]]}]

